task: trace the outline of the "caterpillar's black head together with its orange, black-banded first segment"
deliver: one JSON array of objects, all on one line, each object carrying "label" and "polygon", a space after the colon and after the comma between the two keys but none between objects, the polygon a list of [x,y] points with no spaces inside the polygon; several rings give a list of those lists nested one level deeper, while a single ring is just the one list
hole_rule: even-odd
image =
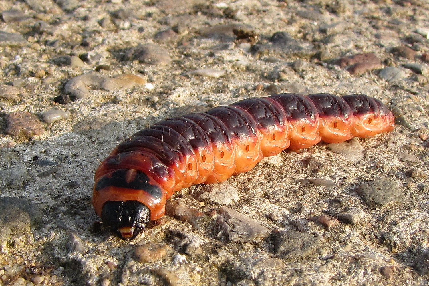
[{"label": "caterpillar's black head together with its orange, black-banded first segment", "polygon": [[163,216],[165,192],[144,172],[117,169],[101,176],[96,173],[96,178],[92,196],[95,211],[119,238],[133,239],[150,220]]}]

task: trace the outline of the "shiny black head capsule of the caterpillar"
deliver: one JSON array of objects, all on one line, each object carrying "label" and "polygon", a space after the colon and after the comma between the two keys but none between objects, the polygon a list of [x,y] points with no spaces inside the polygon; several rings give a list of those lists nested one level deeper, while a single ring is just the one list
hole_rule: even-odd
[{"label": "shiny black head capsule of the caterpillar", "polygon": [[149,223],[151,211],[137,201],[106,202],[101,212],[103,224],[124,240],[135,238]]}]

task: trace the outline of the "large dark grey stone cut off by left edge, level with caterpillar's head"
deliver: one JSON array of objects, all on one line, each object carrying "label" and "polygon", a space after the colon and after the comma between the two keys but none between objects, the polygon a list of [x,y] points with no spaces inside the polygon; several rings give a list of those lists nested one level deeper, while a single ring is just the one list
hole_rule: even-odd
[{"label": "large dark grey stone cut off by left edge, level with caterpillar's head", "polygon": [[37,229],[42,223],[42,214],[36,204],[20,198],[0,198],[0,241],[11,235],[22,235]]}]

